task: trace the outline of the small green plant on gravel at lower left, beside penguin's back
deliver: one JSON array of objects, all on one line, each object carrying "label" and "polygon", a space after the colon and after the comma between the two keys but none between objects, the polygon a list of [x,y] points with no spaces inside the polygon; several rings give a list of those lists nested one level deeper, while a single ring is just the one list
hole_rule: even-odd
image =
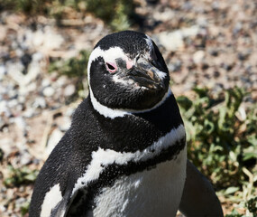
[{"label": "small green plant on gravel at lower left, beside penguin's back", "polygon": [[8,165],[7,168],[9,170],[9,175],[4,180],[4,184],[7,187],[34,183],[39,174],[38,170],[31,170],[27,166],[16,169],[13,165]]}]

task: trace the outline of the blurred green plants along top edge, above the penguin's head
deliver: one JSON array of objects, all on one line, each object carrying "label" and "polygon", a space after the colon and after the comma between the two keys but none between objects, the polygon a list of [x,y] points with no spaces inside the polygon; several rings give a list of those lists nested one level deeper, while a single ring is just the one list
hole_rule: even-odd
[{"label": "blurred green plants along top edge, above the penguin's head", "polygon": [[125,0],[0,0],[0,12],[4,10],[20,12],[30,17],[42,14],[61,20],[69,16],[66,8],[74,12],[87,15],[94,14],[102,19],[113,31],[128,29],[135,19],[135,5],[133,1]]}]

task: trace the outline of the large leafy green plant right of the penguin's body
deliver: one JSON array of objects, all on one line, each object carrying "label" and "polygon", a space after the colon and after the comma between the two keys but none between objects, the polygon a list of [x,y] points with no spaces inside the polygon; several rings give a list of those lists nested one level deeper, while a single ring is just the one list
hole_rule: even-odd
[{"label": "large leafy green plant right of the penguin's body", "polygon": [[[207,89],[194,92],[194,99],[177,99],[187,129],[188,158],[219,195],[256,216],[257,105],[247,109],[244,117],[247,93],[242,89],[216,95]],[[243,215],[234,210],[228,216]]]}]

